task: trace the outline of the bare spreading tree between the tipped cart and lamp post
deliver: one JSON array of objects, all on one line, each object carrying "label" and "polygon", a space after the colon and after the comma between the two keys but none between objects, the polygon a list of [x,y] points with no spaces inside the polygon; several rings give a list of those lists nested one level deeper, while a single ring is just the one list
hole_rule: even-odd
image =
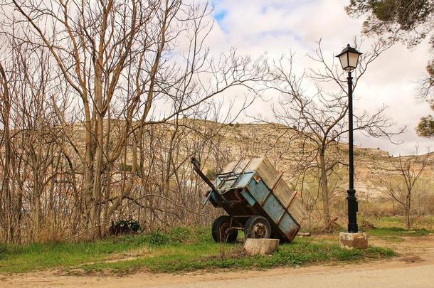
[{"label": "bare spreading tree between the tipped cart and lamp post", "polygon": [[[358,80],[366,73],[369,65],[389,46],[376,44],[371,52],[364,53],[359,62],[354,81],[356,88]],[[324,227],[330,228],[330,204],[332,191],[329,190],[329,177],[337,173],[337,168],[345,165],[342,141],[348,132],[346,113],[348,112],[345,75],[334,62],[324,58],[319,41],[314,56],[311,57],[319,63],[319,69],[309,69],[307,75],[296,75],[293,70],[293,55],[285,61],[281,58],[275,63],[272,70],[273,81],[269,87],[280,92],[280,104],[274,107],[277,122],[284,125],[275,126],[280,130],[280,137],[287,136],[288,144],[292,149],[300,151],[297,157],[297,173],[302,183],[307,174],[317,175],[322,200],[322,217]],[[308,94],[303,81],[311,80],[316,92]],[[334,87],[324,88],[323,84]],[[369,134],[372,137],[390,137],[393,134],[389,128],[392,123],[383,116],[386,107],[381,107],[374,114],[366,111],[354,115],[354,130]],[[279,137],[279,138],[280,138]],[[296,176],[296,175],[295,175]]]}]

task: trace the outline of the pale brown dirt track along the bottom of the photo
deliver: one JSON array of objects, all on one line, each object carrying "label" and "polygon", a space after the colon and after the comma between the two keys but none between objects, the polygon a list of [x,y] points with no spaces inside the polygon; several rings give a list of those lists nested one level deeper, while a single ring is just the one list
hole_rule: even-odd
[{"label": "pale brown dirt track along the bottom of the photo", "polygon": [[55,271],[0,274],[0,287],[434,287],[434,235],[403,239],[388,242],[369,238],[371,245],[391,247],[400,256],[351,265],[186,274],[142,272],[124,277],[65,276]]}]

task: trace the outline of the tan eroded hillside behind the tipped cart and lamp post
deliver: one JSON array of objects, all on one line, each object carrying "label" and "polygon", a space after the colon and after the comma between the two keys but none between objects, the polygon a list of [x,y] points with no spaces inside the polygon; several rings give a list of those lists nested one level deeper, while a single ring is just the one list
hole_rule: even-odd
[{"label": "tan eroded hillside behind the tipped cart and lamp post", "polygon": [[[221,124],[214,124],[219,127]],[[274,124],[230,124],[221,129],[218,137],[221,137],[220,148],[231,159],[253,156],[267,156],[279,171],[284,172],[287,181],[295,185],[300,159],[300,139],[294,139],[295,132],[286,131],[283,126]],[[309,146],[309,145],[307,145]],[[328,153],[333,159],[340,159],[342,164],[334,169],[336,185],[332,187],[339,191],[346,191],[348,185],[347,166],[348,148],[346,144],[338,144],[338,148],[332,147]],[[338,151],[339,150],[339,151]],[[420,168],[420,163],[427,155],[404,156],[403,160],[418,159],[415,169]],[[369,194],[371,197],[386,196],[385,183],[397,181],[401,178],[398,166],[398,157],[393,157],[387,151],[356,146],[354,151],[355,163],[355,188],[358,193]],[[428,157],[428,165],[423,171],[420,182],[429,185],[434,179],[434,159]],[[208,163],[208,169],[213,169]]]}]

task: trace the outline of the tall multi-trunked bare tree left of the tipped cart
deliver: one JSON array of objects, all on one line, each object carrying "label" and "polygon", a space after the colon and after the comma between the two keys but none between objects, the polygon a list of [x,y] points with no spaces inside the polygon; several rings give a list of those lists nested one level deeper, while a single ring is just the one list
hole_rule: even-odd
[{"label": "tall multi-trunked bare tree left of the tipped cart", "polygon": [[[157,178],[155,167],[164,167],[163,174],[158,175],[163,186],[157,186],[166,194],[161,196],[169,199],[171,178],[176,177],[182,163],[176,163],[174,153],[186,134],[179,128],[179,115],[206,110],[213,105],[213,97],[231,87],[255,95],[257,83],[264,78],[265,69],[255,66],[250,58],[238,56],[236,50],[211,57],[204,44],[213,26],[208,4],[181,0],[11,0],[2,3],[1,9],[2,36],[43,50],[51,65],[50,77],[43,77],[41,71],[33,73],[44,87],[55,87],[41,93],[44,100],[36,107],[46,122],[33,132],[46,137],[55,151],[54,158],[42,166],[36,161],[38,171],[54,169],[54,163],[61,168],[57,167],[59,173],[46,175],[41,193],[33,188],[31,193],[55,191],[57,184],[50,179],[68,175],[70,186],[62,187],[72,193],[68,201],[73,201],[75,208],[70,207],[68,215],[73,222],[70,229],[77,236],[103,235],[110,220],[125,212],[125,200],[136,198],[132,194],[140,190],[138,178],[146,175],[145,170]],[[4,83],[3,79],[3,90]],[[1,94],[7,105],[8,95]],[[27,116],[30,119],[39,112],[29,110]],[[166,122],[175,127],[168,132],[171,148],[156,164],[152,150],[149,155],[142,154],[141,142],[152,137],[149,127]],[[9,133],[6,130],[5,135]],[[212,135],[200,137],[208,142]],[[161,144],[165,144],[165,137],[160,137]],[[6,135],[5,139],[9,138]],[[7,146],[7,141],[4,143]],[[52,151],[46,146],[38,149]],[[149,167],[144,166],[147,157],[152,159]],[[25,160],[28,165],[33,163]],[[127,162],[131,171],[124,169]],[[32,180],[39,172],[33,173]],[[169,206],[170,199],[167,201]]]}]

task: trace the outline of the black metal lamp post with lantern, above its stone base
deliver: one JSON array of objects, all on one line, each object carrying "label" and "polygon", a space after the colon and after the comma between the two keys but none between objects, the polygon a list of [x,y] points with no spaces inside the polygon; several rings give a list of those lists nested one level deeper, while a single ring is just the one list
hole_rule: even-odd
[{"label": "black metal lamp post with lantern, above its stone base", "polygon": [[357,227],[357,205],[356,190],[354,190],[354,151],[353,151],[353,78],[351,77],[351,71],[356,69],[357,63],[359,63],[359,56],[361,53],[355,48],[349,46],[349,44],[342,50],[342,52],[336,57],[339,58],[342,69],[348,72],[348,142],[349,142],[349,189],[346,191],[348,196],[348,232],[358,233]]}]

